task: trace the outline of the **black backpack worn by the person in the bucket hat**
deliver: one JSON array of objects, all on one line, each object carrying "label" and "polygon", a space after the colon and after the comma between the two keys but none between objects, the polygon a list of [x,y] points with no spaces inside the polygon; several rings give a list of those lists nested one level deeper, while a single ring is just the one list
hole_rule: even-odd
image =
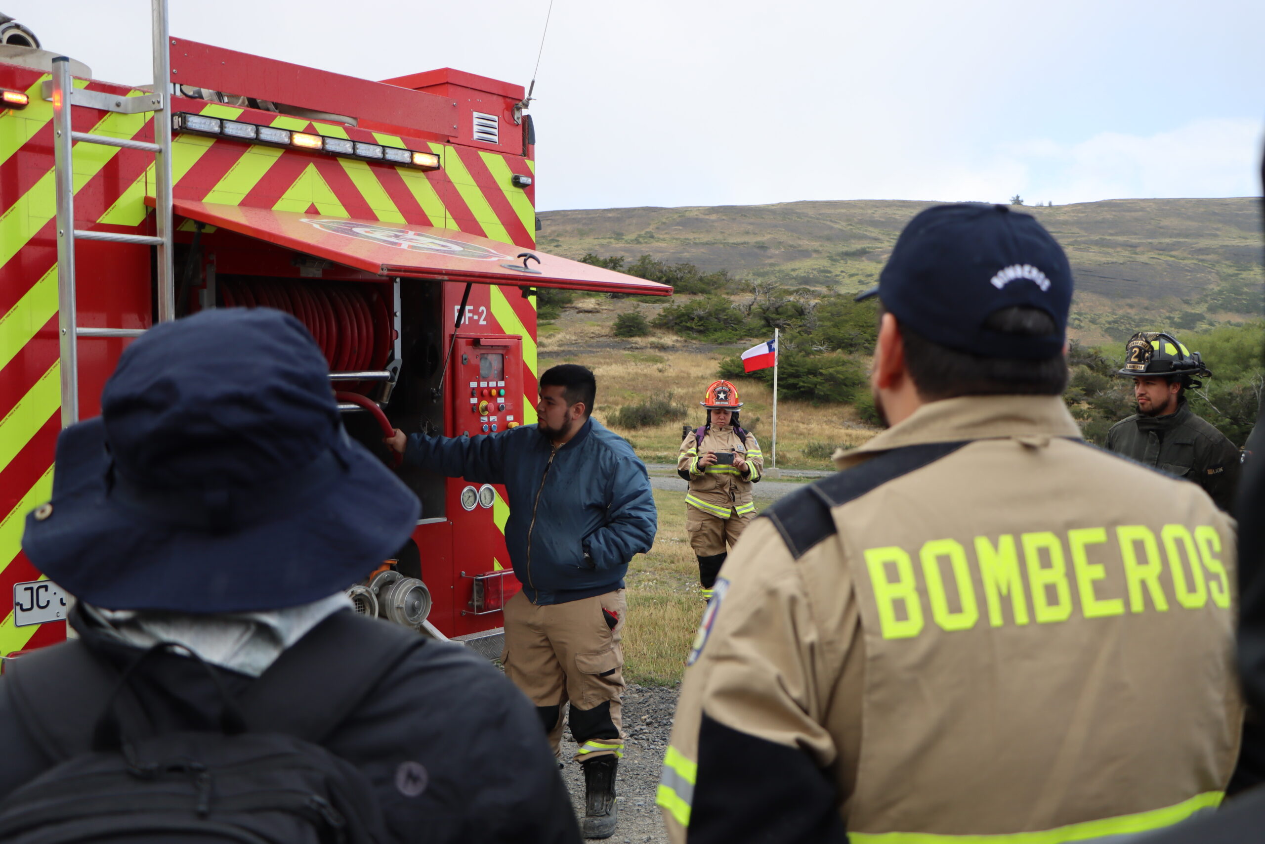
[{"label": "black backpack worn by the person in the bucket hat", "polygon": [[129,680],[178,645],[154,645],[121,674],[81,642],[22,657],[5,672],[10,697],[33,738],[61,760],[0,804],[0,841],[382,844],[388,836],[368,779],[319,743],[424,642],[336,612],[240,701],[192,655],[220,692],[219,731],[147,738],[123,728],[147,720]]}]

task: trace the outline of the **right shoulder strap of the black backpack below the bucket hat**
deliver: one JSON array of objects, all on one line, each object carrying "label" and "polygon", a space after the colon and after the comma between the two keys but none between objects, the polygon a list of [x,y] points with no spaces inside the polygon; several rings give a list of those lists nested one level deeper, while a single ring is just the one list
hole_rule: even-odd
[{"label": "right shoulder strap of the black backpack below the bucket hat", "polygon": [[245,723],[254,733],[286,733],[320,744],[426,642],[390,621],[335,612],[250,683],[240,700]]}]

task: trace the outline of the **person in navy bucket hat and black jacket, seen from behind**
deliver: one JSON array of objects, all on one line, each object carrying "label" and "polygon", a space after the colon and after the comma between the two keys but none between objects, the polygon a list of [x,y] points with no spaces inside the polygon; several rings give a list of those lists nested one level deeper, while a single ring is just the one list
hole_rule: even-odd
[{"label": "person in navy bucket hat and black jacket, seen from behind", "polygon": [[[350,612],[344,588],[405,542],[420,507],[348,438],[297,320],[233,309],[157,325],[124,352],[101,407],[62,431],[53,499],[27,519],[23,550],[78,599],[80,640],[0,681],[0,801],[13,796],[0,824],[24,805],[19,788],[96,747],[130,666],[123,735],[216,730],[228,695],[248,731],[350,763],[382,840],[579,840],[509,681],[458,645]],[[180,649],[139,659],[164,642]]]}]

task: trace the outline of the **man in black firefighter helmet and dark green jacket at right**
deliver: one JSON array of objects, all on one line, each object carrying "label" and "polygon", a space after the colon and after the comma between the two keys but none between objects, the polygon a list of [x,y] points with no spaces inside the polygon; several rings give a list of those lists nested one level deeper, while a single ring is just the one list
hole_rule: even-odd
[{"label": "man in black firefighter helmet and dark green jacket at right", "polygon": [[1212,377],[1198,352],[1171,334],[1138,332],[1125,345],[1118,375],[1133,380],[1137,413],[1107,433],[1107,448],[1138,463],[1193,481],[1227,512],[1238,482],[1238,449],[1211,423],[1195,415],[1185,391]]}]

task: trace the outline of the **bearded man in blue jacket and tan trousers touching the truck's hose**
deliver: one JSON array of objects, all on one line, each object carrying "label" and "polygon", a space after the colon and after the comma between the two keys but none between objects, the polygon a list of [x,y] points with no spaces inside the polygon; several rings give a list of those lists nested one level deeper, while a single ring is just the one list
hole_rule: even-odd
[{"label": "bearded man in blue jacket and tan trousers touching the truck's hose", "polygon": [[406,463],[474,483],[502,483],[505,542],[522,591],[505,606],[505,673],[536,705],[559,754],[571,702],[584,769],[586,838],[615,831],[615,772],[624,755],[624,574],[650,550],[658,514],[645,464],[589,415],[597,381],[564,363],[540,377],[539,421],[490,437],[406,437]]}]

